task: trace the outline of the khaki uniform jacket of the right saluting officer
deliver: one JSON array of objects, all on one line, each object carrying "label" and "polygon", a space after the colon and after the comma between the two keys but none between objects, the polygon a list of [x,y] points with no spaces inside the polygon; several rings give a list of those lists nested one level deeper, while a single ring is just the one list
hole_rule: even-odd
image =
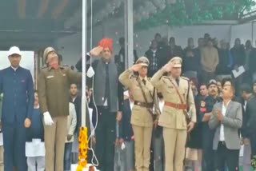
[{"label": "khaki uniform jacket of the right saluting officer", "polygon": [[[179,85],[177,85],[174,78],[171,76],[163,76],[163,74],[165,74],[164,70],[158,70],[150,80],[152,85],[158,89],[159,93],[162,93],[164,101],[174,104],[182,104],[183,101],[189,105],[191,108],[191,121],[196,122],[197,116],[195,112],[194,95],[192,89],[189,89],[188,78],[181,77],[179,79]],[[182,101],[174,86],[178,87],[178,91],[182,96]],[[171,129],[187,129],[186,117],[183,112],[183,109],[176,109],[164,105],[158,125]]]}]

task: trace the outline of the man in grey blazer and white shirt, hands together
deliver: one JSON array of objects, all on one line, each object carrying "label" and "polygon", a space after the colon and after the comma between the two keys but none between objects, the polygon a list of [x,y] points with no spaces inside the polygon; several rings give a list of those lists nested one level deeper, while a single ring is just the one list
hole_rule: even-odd
[{"label": "man in grey blazer and white shirt, hands together", "polygon": [[216,150],[217,169],[238,170],[240,138],[238,129],[242,127],[242,105],[232,101],[234,87],[225,85],[222,89],[223,101],[214,105],[210,117],[210,129],[215,129],[213,149]]}]

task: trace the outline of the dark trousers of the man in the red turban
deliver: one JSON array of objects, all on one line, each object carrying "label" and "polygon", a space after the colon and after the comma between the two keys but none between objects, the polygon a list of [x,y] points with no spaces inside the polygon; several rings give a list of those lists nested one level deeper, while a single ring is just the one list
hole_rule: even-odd
[{"label": "dark trousers of the man in the red turban", "polygon": [[110,109],[98,106],[95,151],[98,158],[98,169],[102,171],[114,170],[115,125],[116,113],[111,113]]}]

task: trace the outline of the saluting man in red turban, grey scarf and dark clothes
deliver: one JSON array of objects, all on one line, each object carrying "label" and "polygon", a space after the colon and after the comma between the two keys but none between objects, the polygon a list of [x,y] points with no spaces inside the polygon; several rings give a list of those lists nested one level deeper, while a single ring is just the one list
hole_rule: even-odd
[{"label": "saluting man in red turban, grey scarf and dark clothes", "polygon": [[[97,106],[98,125],[95,130],[96,156],[98,169],[114,170],[114,141],[116,137],[116,121],[122,117],[123,89],[118,84],[118,66],[113,58],[113,40],[103,38],[98,46],[90,50],[90,57],[100,57],[94,60],[94,101]],[[82,68],[82,62],[76,65]]]}]

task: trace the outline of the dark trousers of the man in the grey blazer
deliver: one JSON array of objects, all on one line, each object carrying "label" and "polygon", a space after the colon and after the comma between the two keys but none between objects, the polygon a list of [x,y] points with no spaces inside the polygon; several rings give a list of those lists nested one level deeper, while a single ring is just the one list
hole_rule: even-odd
[{"label": "dark trousers of the man in the grey blazer", "polygon": [[227,149],[225,142],[220,141],[216,152],[216,165],[218,171],[224,171],[225,165],[230,171],[239,170],[239,149]]}]

